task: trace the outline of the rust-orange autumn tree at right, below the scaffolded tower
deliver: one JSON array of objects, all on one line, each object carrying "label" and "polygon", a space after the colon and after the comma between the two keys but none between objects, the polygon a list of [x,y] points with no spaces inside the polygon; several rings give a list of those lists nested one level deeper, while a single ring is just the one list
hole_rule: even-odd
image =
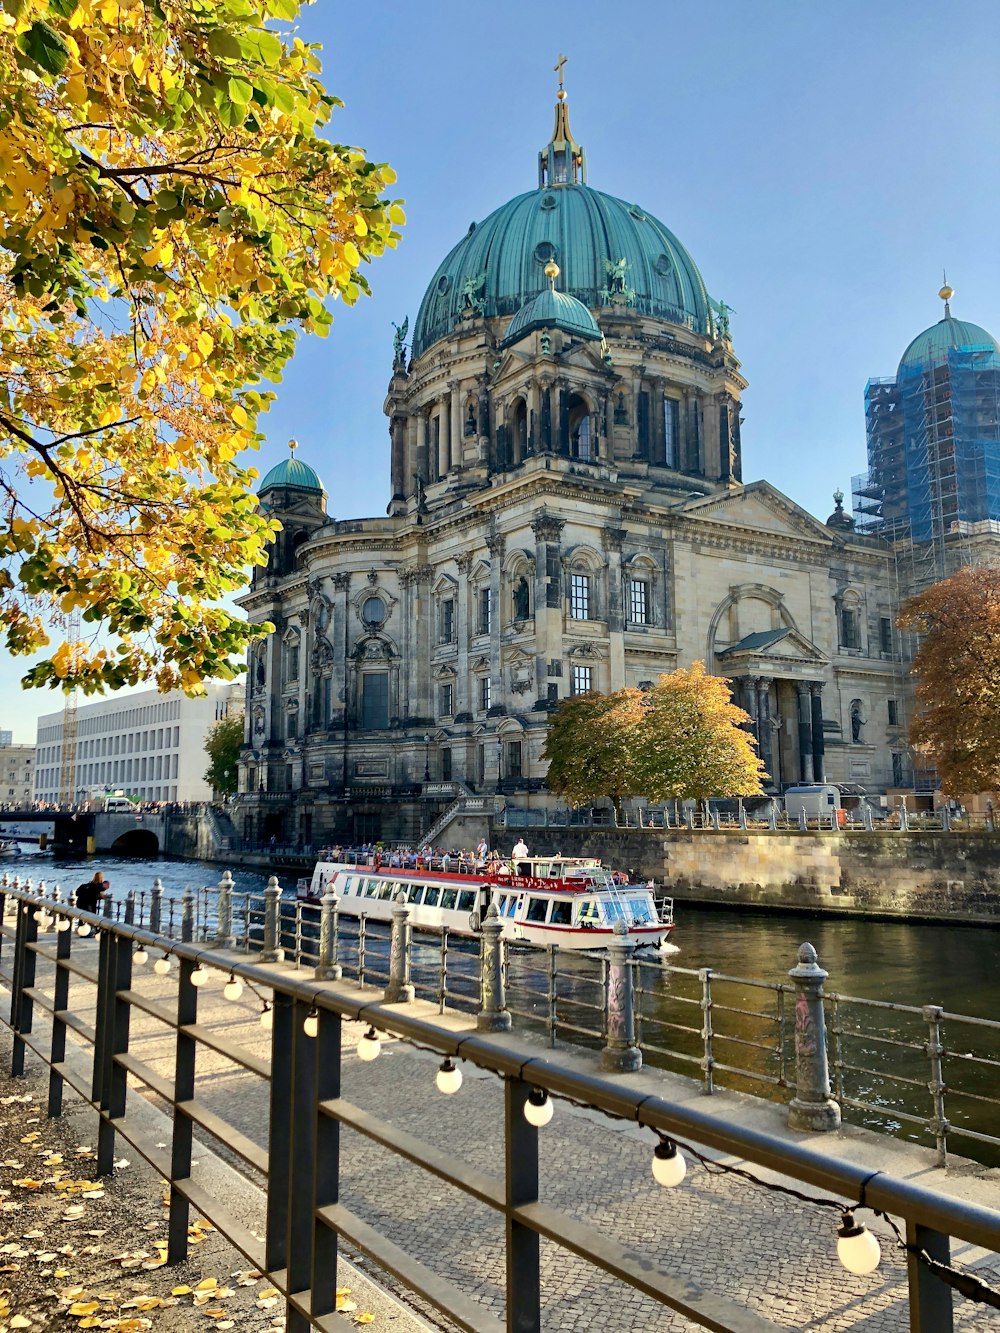
[{"label": "rust-orange autumn tree at right, below the scaffolded tower", "polygon": [[897,624],[921,636],[912,748],[949,796],[1000,790],[1000,569],[965,565],[905,601]]}]

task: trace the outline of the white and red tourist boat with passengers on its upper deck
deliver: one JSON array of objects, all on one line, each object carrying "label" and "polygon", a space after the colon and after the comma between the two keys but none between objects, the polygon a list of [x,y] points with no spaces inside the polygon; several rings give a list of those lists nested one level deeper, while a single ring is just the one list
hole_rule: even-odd
[{"label": "white and red tourist boat with passengers on its upper deck", "polygon": [[592,857],[519,857],[461,874],[317,861],[299,881],[299,898],[319,904],[329,889],[341,916],[388,921],[403,893],[412,925],[456,934],[479,934],[495,902],[504,938],[561,949],[604,949],[619,921],[637,948],[659,948],[673,929],[671,898],[657,904],[649,885],[629,884]]}]

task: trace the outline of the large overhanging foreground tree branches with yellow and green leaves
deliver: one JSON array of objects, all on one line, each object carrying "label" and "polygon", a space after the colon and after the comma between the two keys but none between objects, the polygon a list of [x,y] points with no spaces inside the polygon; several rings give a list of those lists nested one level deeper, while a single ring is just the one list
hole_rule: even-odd
[{"label": "large overhanging foreground tree branches with yellow and green leaves", "polygon": [[[259,415],[399,239],[299,0],[0,0],[0,627],[25,685],[196,690],[259,633]],[[81,613],[95,637],[65,639]]]}]

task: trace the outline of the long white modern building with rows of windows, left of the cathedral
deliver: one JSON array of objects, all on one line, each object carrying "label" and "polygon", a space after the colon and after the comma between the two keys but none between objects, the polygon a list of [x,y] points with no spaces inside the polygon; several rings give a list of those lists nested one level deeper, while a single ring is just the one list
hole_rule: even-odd
[{"label": "long white modern building with rows of windows, left of the cathedral", "polygon": [[[76,712],[72,798],[124,792],[140,801],[207,801],[205,737],[243,712],[243,682],[209,684],[204,698],[156,689],[83,704]],[[39,718],[35,800],[60,798],[65,716]]]}]

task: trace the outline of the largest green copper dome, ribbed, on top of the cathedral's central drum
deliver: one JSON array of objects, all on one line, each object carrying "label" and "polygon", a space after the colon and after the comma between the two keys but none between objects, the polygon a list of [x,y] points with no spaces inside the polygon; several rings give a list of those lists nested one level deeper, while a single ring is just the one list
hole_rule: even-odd
[{"label": "largest green copper dome, ribbed, on top of the cathedral's central drum", "polygon": [[561,293],[588,311],[617,305],[712,331],[708,292],[691,255],[636,204],[583,183],[519,195],[475,223],[440,265],[413,331],[420,356],[468,315],[516,315],[547,288],[545,264],[561,269]]}]

